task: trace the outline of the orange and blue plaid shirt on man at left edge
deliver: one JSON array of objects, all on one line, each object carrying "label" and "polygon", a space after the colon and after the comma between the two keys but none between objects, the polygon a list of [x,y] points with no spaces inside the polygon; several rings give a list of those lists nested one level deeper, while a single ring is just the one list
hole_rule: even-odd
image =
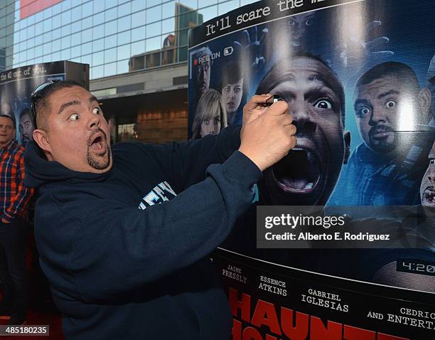
[{"label": "orange and blue plaid shirt on man at left edge", "polygon": [[27,206],[33,189],[23,186],[24,148],[16,140],[0,149],[0,218],[27,219]]}]

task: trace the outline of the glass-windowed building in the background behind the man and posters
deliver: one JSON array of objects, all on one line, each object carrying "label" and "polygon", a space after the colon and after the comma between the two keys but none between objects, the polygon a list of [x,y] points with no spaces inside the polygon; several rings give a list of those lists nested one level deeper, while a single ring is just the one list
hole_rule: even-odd
[{"label": "glass-windowed building in the background behind the man and posters", "polygon": [[90,90],[112,118],[115,140],[183,140],[188,29],[252,2],[0,1],[0,69],[87,63]]}]

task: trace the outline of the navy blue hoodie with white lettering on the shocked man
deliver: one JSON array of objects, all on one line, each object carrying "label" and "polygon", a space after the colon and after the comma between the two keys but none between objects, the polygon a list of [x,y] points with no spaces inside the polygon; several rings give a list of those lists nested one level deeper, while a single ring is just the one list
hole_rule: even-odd
[{"label": "navy blue hoodie with white lettering on the shocked man", "polygon": [[230,339],[208,254],[261,177],[239,146],[240,127],[182,144],[120,143],[112,169],[91,174],[28,145],[36,243],[67,339]]}]

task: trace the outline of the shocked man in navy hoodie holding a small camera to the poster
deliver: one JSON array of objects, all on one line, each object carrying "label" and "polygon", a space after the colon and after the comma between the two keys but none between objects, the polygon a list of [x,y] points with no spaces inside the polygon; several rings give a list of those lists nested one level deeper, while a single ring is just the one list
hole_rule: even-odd
[{"label": "shocked man in navy hoodie holding a small camera to the poster", "polygon": [[230,339],[208,254],[296,144],[287,104],[257,95],[243,127],[182,144],[109,143],[97,99],[50,81],[31,96],[26,184],[41,268],[67,339]]}]

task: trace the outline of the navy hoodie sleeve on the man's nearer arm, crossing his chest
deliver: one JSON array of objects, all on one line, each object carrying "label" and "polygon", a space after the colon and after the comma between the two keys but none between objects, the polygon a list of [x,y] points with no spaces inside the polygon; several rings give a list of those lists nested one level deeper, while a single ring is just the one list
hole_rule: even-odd
[{"label": "navy hoodie sleeve on the man's nearer arm, crossing his chest", "polygon": [[[99,202],[76,231],[67,267],[80,299],[100,302],[156,282],[213,251],[252,201],[261,171],[235,152],[171,201],[140,210]],[[253,227],[254,228],[254,227]]]}]

